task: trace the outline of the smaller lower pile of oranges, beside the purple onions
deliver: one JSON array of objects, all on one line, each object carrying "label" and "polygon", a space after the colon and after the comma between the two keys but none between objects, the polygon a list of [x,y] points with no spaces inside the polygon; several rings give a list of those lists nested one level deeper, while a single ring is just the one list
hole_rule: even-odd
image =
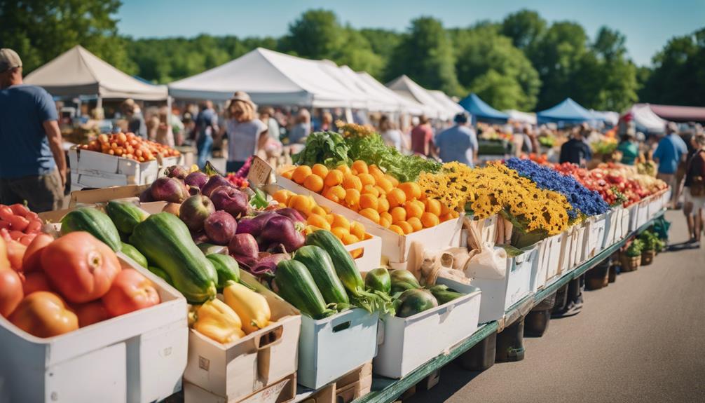
[{"label": "smaller lower pile of oranges, beside the purple onions", "polygon": [[365,233],[364,225],[357,221],[349,221],[340,214],[331,213],[331,209],[319,206],[313,197],[295,194],[285,189],[277,190],[272,197],[279,202],[280,207],[295,209],[306,218],[307,233],[318,229],[329,230],[346,245],[372,237]]}]

